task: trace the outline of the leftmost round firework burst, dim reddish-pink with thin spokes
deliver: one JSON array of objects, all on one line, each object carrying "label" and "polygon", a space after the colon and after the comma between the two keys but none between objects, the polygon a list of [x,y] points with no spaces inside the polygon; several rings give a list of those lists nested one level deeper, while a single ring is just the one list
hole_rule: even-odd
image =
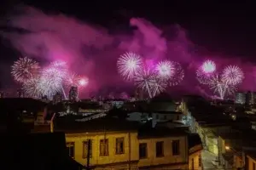
[{"label": "leftmost round firework burst, dim reddish-pink with thin spokes", "polygon": [[15,64],[12,65],[11,74],[15,78],[15,81],[26,82],[32,77],[36,77],[39,69],[40,66],[38,65],[38,62],[24,57],[15,61]]}]

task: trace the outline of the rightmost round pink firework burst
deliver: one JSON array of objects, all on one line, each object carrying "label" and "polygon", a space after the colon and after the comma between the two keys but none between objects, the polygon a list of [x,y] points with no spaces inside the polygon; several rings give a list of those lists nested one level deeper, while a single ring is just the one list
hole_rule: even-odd
[{"label": "rightmost round pink firework burst", "polygon": [[236,65],[229,65],[224,68],[224,71],[221,75],[223,82],[227,82],[228,85],[237,85],[242,82],[244,78],[241,68]]}]

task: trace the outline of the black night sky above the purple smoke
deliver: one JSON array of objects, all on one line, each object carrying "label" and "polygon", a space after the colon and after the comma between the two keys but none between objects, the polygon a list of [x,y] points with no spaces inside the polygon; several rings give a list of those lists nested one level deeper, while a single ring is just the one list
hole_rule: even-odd
[{"label": "black night sky above the purple smoke", "polygon": [[[54,2],[54,3],[53,3]],[[49,14],[67,14],[79,20],[108,27],[110,30],[129,31],[131,17],[150,20],[155,26],[179,24],[189,39],[198,45],[197,53],[222,54],[228,58],[256,61],[256,11],[253,3],[171,3],[167,1],[9,1],[1,4],[2,16],[15,5],[24,3]],[[119,2],[119,3],[118,3]],[[7,40],[0,45],[0,62],[11,63],[19,53]],[[3,86],[3,80],[1,80]],[[0,85],[1,85],[0,84]]]}]

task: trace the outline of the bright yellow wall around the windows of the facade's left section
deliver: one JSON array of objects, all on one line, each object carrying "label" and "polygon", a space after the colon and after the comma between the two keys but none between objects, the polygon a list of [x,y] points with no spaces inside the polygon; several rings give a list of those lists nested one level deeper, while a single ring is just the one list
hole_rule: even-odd
[{"label": "bright yellow wall around the windows of the facade's left section", "polygon": [[[124,138],[124,154],[116,154],[116,139]],[[90,166],[106,165],[125,161],[138,160],[138,141],[137,133],[73,133],[66,134],[67,143],[74,144],[73,159],[80,164],[85,165],[87,159],[83,157],[83,142],[91,139],[92,141],[92,156],[90,157]],[[108,139],[108,156],[100,156],[100,140]],[[129,147],[131,144],[131,147]],[[128,166],[128,165],[123,165]],[[126,168],[126,167],[124,167]]]}]

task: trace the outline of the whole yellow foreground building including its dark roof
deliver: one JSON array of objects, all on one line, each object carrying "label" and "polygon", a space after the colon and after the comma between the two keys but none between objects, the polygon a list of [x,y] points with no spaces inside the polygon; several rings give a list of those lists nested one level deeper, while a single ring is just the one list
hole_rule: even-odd
[{"label": "whole yellow foreground building including its dark roof", "polygon": [[53,129],[66,133],[69,156],[82,165],[94,169],[200,167],[201,148],[198,143],[189,144],[188,133],[183,130],[144,128],[138,122],[111,117],[73,126],[70,123],[56,118]]}]

